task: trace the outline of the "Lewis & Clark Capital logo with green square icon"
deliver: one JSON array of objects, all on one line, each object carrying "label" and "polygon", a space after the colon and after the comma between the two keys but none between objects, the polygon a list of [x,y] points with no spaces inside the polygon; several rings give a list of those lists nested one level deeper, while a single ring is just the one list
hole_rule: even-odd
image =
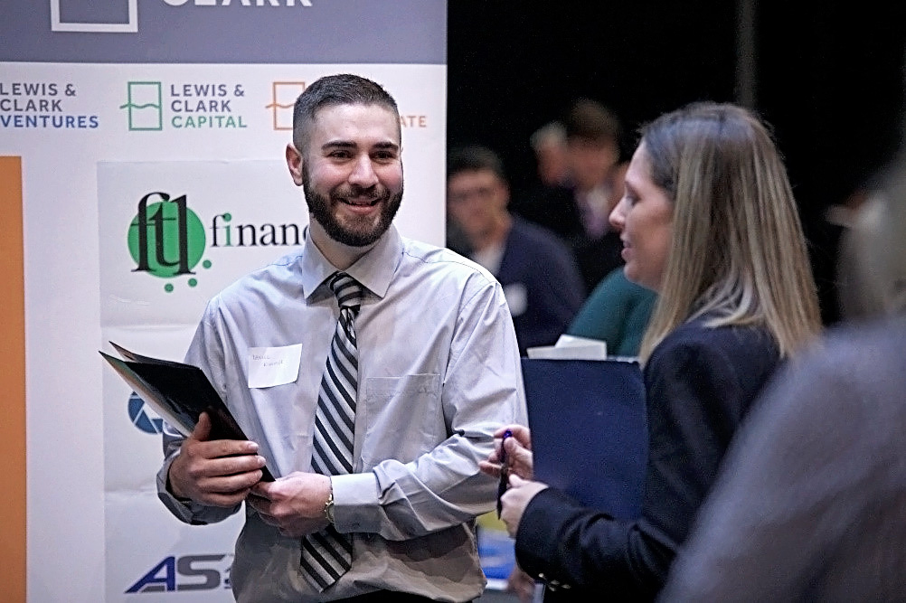
[{"label": "Lewis & Clark Capital logo with green square icon", "polygon": [[130,131],[175,129],[245,129],[242,84],[223,82],[130,81],[126,111]]}]

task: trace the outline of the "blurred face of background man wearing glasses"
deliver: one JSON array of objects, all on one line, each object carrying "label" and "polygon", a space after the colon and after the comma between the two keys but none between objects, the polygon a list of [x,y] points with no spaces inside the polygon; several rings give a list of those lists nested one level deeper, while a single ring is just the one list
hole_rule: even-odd
[{"label": "blurred face of background man wearing glasses", "polygon": [[506,185],[490,169],[463,170],[447,182],[449,215],[473,241],[491,234],[508,200]]}]

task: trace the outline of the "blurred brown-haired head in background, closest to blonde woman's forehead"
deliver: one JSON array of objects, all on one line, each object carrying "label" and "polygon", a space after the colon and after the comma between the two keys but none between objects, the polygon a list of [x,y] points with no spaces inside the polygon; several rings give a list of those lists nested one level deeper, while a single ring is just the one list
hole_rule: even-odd
[{"label": "blurred brown-haired head in background, closest to blonde woman's forehead", "polygon": [[564,121],[566,158],[573,184],[590,190],[607,182],[620,161],[621,125],[600,102],[581,99]]}]

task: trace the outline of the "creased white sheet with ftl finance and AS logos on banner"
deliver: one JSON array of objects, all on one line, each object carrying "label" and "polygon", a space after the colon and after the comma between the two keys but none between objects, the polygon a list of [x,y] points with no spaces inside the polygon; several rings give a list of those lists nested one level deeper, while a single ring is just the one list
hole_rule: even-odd
[{"label": "creased white sheet with ftl finance and AS logos on banner", "polygon": [[[98,214],[102,338],[168,359],[211,296],[300,244],[308,222],[279,160],[102,162]],[[159,417],[112,370],[103,403],[107,600],[228,598],[241,518],[200,531],[175,522],[156,495]],[[140,550],[137,521],[154,539]]]}]

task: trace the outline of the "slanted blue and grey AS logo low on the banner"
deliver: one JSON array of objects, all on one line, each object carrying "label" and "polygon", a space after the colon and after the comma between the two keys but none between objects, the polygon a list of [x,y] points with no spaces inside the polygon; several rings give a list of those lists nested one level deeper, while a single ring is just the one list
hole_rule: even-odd
[{"label": "slanted blue and grey AS logo low on the banner", "polygon": [[136,580],[125,594],[229,589],[232,562],[231,554],[170,555]]}]

